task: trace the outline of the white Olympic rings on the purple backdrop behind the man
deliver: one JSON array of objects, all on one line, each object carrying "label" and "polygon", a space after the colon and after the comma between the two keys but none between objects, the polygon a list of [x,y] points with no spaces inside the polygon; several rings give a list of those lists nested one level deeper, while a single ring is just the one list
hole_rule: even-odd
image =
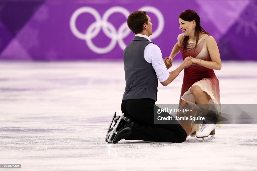
[{"label": "white Olympic rings on the purple backdrop behind the man", "polygon": [[[157,27],[157,29],[153,32],[153,34],[150,37],[151,39],[155,39],[156,37],[158,37],[162,33],[162,30],[164,28],[164,17],[162,15],[162,13],[157,8],[152,7],[152,6],[144,6],[144,7],[140,8],[139,10],[151,12],[151,13],[153,13],[157,17],[157,19],[158,19],[158,27]],[[87,28],[86,33],[81,33],[77,29],[77,27],[76,27],[77,17],[80,14],[82,14],[82,13],[90,13],[91,15],[94,16],[94,18],[96,20],[94,23],[92,23]],[[87,46],[89,47],[89,49],[91,49],[95,53],[98,53],[98,54],[108,53],[108,52],[110,52],[110,51],[112,51],[114,49],[114,47],[116,46],[117,42],[118,42],[118,45],[120,46],[120,48],[122,50],[124,50],[127,45],[124,43],[123,39],[125,37],[127,37],[131,33],[131,30],[127,26],[127,21],[124,22],[123,24],[121,24],[119,29],[116,30],[114,25],[112,23],[108,22],[109,16],[112,15],[113,13],[121,13],[126,18],[130,14],[130,12],[126,8],[121,7],[121,6],[114,6],[112,8],[109,8],[104,13],[103,17],[101,18],[101,16],[98,13],[98,11],[96,11],[92,7],[81,7],[81,8],[78,8],[71,15],[71,18],[70,18],[70,29],[71,29],[71,32],[78,39],[85,40]],[[99,48],[99,47],[97,47],[92,42],[92,39],[94,39],[99,34],[101,29],[103,29],[104,34],[108,38],[111,39],[110,44],[107,45],[104,48]]]}]

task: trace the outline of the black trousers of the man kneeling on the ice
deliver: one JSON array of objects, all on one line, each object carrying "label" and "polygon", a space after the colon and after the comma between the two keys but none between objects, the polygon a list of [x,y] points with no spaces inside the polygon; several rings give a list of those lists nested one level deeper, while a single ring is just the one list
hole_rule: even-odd
[{"label": "black trousers of the man kneeling on the ice", "polygon": [[[157,142],[184,142],[187,138],[187,133],[179,123],[153,124],[154,106],[156,105],[153,99],[122,100],[122,113],[135,122],[132,127],[132,137],[130,139]],[[166,114],[167,116],[171,116],[169,113]]]}]

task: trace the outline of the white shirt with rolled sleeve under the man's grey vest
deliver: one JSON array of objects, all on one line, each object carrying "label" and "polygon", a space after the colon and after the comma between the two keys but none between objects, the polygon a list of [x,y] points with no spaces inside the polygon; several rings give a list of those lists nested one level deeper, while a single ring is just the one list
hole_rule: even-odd
[{"label": "white shirt with rolled sleeve under the man's grey vest", "polygon": [[[135,36],[144,37],[152,42],[151,39],[144,34],[136,34]],[[166,81],[169,78],[170,73],[167,71],[167,68],[162,60],[161,50],[157,45],[150,43],[145,46],[144,58],[148,63],[152,64],[160,82]]]}]

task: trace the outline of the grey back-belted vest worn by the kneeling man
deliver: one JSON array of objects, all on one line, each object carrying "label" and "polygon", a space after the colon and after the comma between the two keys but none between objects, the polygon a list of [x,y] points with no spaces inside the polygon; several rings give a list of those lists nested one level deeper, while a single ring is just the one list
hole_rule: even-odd
[{"label": "grey back-belted vest worn by the kneeling man", "polygon": [[123,52],[126,87],[122,100],[150,98],[157,101],[158,79],[151,63],[144,59],[145,46],[151,43],[135,36]]}]

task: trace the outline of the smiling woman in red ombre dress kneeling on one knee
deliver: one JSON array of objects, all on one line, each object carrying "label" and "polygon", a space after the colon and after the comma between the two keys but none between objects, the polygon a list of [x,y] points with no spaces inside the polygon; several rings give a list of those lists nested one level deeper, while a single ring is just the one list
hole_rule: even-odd
[{"label": "smiling woman in red ombre dress kneeling on one knee", "polygon": [[[200,25],[200,17],[191,9],[179,15],[179,29],[183,32],[178,35],[178,42],[174,45],[166,67],[170,68],[173,58],[181,52],[183,60],[192,56],[193,63],[184,70],[183,85],[180,95],[180,105],[183,104],[215,104],[219,106],[219,81],[213,70],[221,69],[221,58],[215,39]],[[196,46],[197,45],[197,46]],[[219,110],[218,109],[218,110]],[[183,128],[192,137],[208,137],[215,134],[214,124],[199,124],[194,127]],[[221,124],[216,124],[220,127]],[[195,133],[195,131],[198,131]]]}]

